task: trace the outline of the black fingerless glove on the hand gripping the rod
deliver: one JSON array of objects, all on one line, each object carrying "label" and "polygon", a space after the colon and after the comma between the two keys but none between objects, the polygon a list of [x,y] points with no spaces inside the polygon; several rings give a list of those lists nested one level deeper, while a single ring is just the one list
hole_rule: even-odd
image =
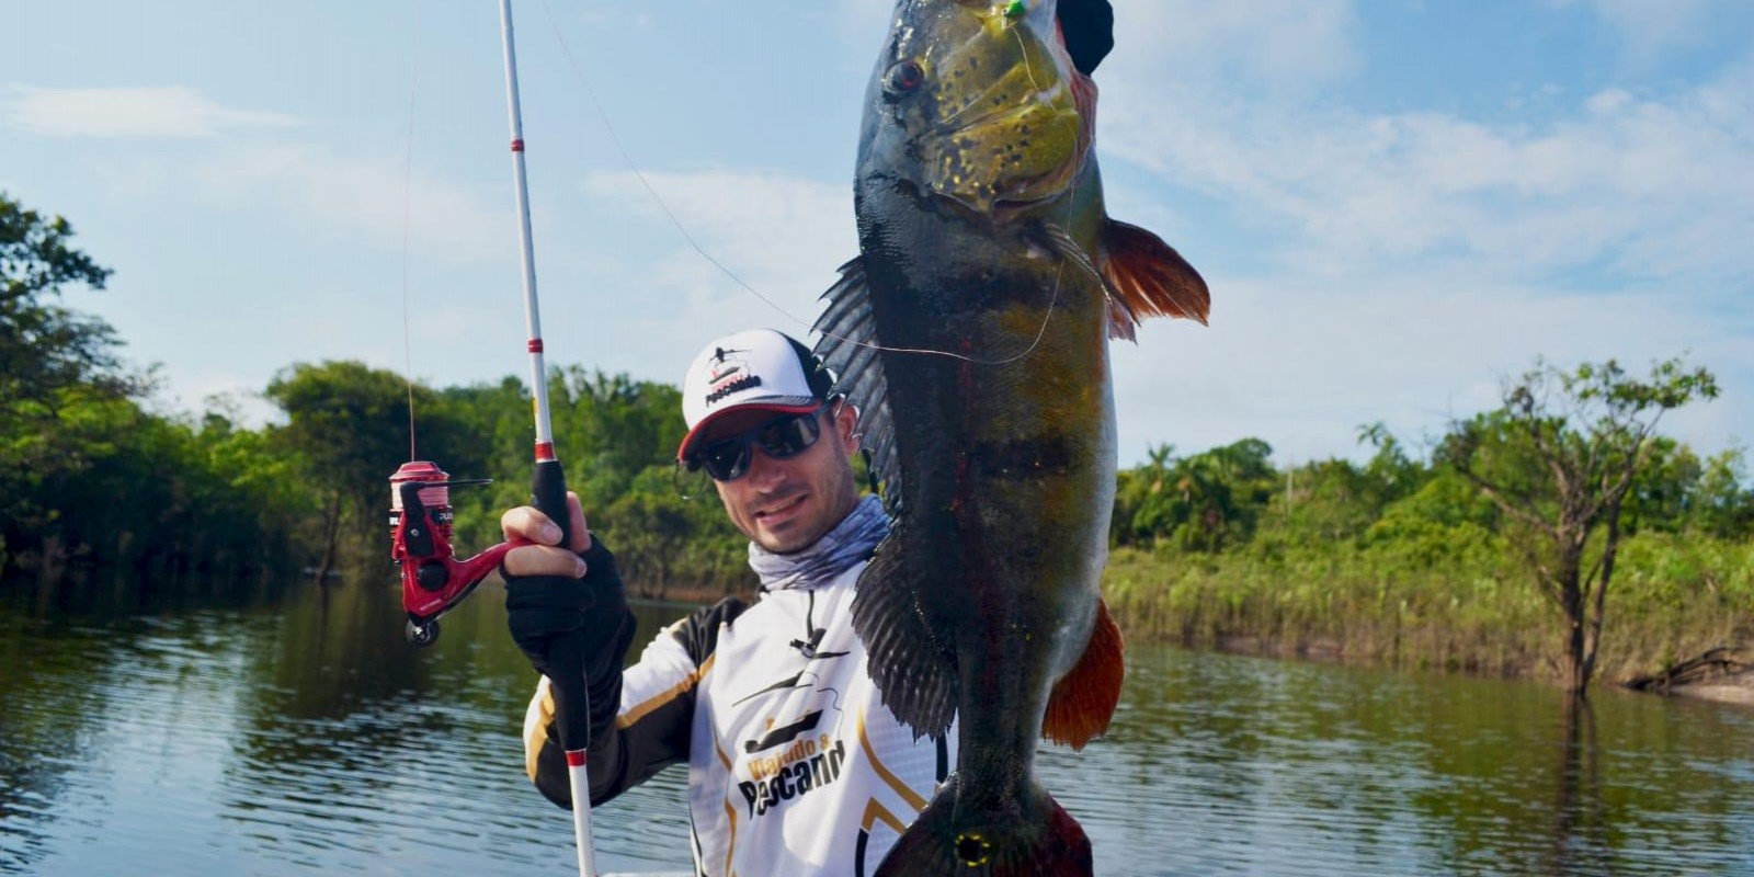
[{"label": "black fingerless glove on the hand gripping the rod", "polygon": [[[584,682],[589,691],[591,738],[609,731],[621,707],[621,663],[633,644],[635,619],[616,556],[593,533],[579,553],[582,579],[565,575],[507,575],[505,621],[517,649],[561,696]],[[572,705],[563,707],[572,712]],[[575,717],[568,721],[577,721]]]}]

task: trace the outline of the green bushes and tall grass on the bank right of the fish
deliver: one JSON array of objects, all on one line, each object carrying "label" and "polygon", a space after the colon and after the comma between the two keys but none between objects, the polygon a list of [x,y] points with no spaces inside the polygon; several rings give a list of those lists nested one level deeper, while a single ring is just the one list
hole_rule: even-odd
[{"label": "green bushes and tall grass on the bank right of the fish", "polygon": [[[1189,645],[1572,684],[1577,619],[1544,588],[1551,545],[1458,470],[1454,442],[1470,423],[1424,456],[1366,426],[1365,463],[1275,468],[1252,438],[1189,456],[1159,447],[1121,474],[1105,579],[1117,619]],[[1645,447],[1598,616],[1596,672],[1608,679],[1754,638],[1743,451],[1700,458],[1665,437]],[[1596,561],[1603,530],[1584,545]]]}]

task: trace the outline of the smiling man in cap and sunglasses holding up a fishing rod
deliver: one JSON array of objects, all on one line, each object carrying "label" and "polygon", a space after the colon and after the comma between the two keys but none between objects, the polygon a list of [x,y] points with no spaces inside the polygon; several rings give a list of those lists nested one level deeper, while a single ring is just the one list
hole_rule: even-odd
[{"label": "smiling man in cap and sunglasses holding up a fishing rod", "polygon": [[[577,588],[596,603],[574,610],[596,644],[586,674],[591,802],[686,761],[700,873],[872,873],[956,754],[954,730],[916,740],[866,674],[852,595],[889,524],[879,500],[858,493],[849,460],[858,412],[831,382],[802,344],[774,330],[717,339],[695,358],[677,460],[712,477],[749,537],[761,586],[752,603],[728,598],[672,624],[626,672],[631,616],[577,500],[574,551],[553,547],[558,533],[535,509],[502,517],[509,538],[538,542],[505,558],[514,637],[538,668],[540,644],[519,631],[553,630],[556,619],[523,589],[581,577]],[[526,616],[540,617],[530,624]],[[524,738],[537,788],[570,805],[545,677]]]}]

